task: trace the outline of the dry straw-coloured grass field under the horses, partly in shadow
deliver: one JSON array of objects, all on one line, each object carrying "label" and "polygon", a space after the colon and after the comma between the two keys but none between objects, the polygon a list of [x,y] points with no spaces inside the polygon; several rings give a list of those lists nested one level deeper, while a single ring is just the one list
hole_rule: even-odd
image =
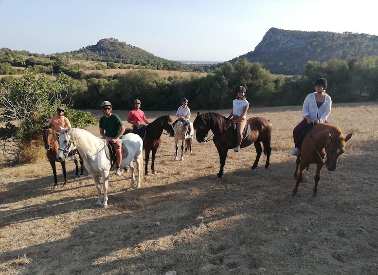
[{"label": "dry straw-coloured grass field under the horses, partly in shadow", "polygon": [[[114,113],[127,126],[127,111]],[[164,114],[146,111],[150,121]],[[144,176],[141,189],[129,188],[128,173],[111,174],[107,209],[94,207],[94,183],[87,174],[75,178],[72,162],[65,187],[58,166],[58,189],[46,159],[3,163],[0,274],[377,275],[377,114],[377,103],[333,106],[329,121],[353,136],[336,171],[322,170],[318,202],[311,202],[314,165],[288,200],[300,106],[249,110],[273,124],[269,169],[265,158],[250,169],[253,146],[230,150],[218,183],[213,142],[194,141],[193,153],[175,162],[173,138],[163,134],[158,174]]]}]

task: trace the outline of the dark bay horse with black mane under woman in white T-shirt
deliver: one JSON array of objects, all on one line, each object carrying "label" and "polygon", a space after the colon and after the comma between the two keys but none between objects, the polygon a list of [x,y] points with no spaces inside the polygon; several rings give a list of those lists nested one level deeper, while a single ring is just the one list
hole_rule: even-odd
[{"label": "dark bay horse with black mane under woman in white T-shirt", "polygon": [[[254,147],[256,148],[256,159],[251,169],[255,169],[260,160],[261,153],[263,152],[261,147],[262,143],[264,145],[264,156],[267,156],[265,168],[268,169],[271,152],[270,140],[272,125],[268,119],[263,117],[252,117],[247,120],[247,123],[251,127],[251,139],[248,141],[243,140],[240,147],[244,148],[250,146],[252,143],[254,144]],[[193,125],[197,130],[196,138],[198,142],[205,142],[207,133],[210,130],[212,130],[214,134],[213,142],[218,150],[220,160],[220,169],[217,174],[217,181],[220,181],[223,176],[228,150],[235,147],[234,141],[231,139],[231,126],[233,123],[230,119],[227,119],[215,112],[202,114],[199,114],[198,112]]]}]

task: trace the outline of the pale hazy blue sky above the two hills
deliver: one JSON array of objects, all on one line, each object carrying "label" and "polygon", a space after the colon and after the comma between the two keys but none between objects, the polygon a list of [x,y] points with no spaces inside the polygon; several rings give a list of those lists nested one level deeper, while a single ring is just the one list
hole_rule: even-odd
[{"label": "pale hazy blue sky above the two hills", "polygon": [[169,60],[227,61],[271,28],[378,35],[370,0],[0,0],[0,48],[53,54],[116,38]]}]

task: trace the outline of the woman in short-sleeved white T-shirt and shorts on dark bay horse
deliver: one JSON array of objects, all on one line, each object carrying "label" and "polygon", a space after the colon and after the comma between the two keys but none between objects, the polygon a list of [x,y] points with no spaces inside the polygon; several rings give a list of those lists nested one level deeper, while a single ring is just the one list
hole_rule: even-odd
[{"label": "woman in short-sleeved white T-shirt and shorts on dark bay horse", "polygon": [[237,146],[234,148],[235,152],[239,152],[240,145],[243,140],[243,130],[247,123],[247,110],[250,107],[250,103],[245,97],[246,88],[239,86],[237,88],[237,96],[233,101],[233,110],[228,118],[236,123],[237,126]]}]

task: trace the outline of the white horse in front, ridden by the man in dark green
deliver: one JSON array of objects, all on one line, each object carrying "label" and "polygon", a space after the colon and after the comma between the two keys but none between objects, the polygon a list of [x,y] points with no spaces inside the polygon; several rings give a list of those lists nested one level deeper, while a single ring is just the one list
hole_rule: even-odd
[{"label": "white horse in front, ridden by the man in dark green", "polygon": [[[143,166],[143,140],[141,137],[134,133],[128,133],[123,136],[122,139],[123,145],[126,147],[126,152],[122,156],[121,168],[130,166],[131,171],[131,185],[134,187],[135,176],[134,176],[134,165],[133,159],[136,162],[137,174],[138,174],[138,183],[136,188],[141,188],[141,170]],[[84,164],[87,171],[92,177],[97,193],[98,200],[95,204],[96,207],[102,206],[103,208],[108,207],[108,180],[109,180],[109,171],[115,170],[117,165],[114,164],[110,167],[110,157],[108,153],[108,141],[105,139],[98,138],[92,135],[90,132],[79,129],[79,128],[61,128],[61,133],[59,136],[59,151],[56,155],[56,158],[63,162],[67,156],[68,152],[71,151],[73,146],[76,146],[80,155],[84,159]],[[103,180],[103,190],[104,196],[101,195],[101,184],[100,176]],[[104,201],[102,202],[102,199]],[[102,203],[101,203],[102,202]]]}]

